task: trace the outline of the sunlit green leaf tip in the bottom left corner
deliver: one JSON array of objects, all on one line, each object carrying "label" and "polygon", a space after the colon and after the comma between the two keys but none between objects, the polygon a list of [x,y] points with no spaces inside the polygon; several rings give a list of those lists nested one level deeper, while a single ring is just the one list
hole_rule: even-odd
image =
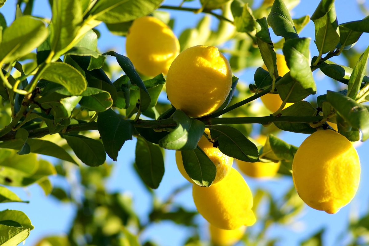
[{"label": "sunlit green leaf tip in the bottom left corner", "polygon": [[30,229],[0,225],[0,245],[14,246],[23,242],[30,235]]}]

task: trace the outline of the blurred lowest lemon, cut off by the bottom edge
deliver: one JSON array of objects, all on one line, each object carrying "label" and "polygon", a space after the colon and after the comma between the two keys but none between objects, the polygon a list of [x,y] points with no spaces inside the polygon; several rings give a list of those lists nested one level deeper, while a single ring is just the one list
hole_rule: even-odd
[{"label": "blurred lowest lemon, cut off by the bottom edge", "polygon": [[246,231],[246,226],[234,230],[224,230],[209,224],[211,242],[217,246],[231,246],[237,243]]}]

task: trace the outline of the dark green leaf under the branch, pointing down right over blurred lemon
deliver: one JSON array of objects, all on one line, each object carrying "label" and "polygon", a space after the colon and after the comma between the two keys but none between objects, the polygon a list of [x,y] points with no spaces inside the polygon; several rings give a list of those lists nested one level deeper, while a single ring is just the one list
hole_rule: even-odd
[{"label": "dark green leaf under the branch, pointing down right over blurred lemon", "polygon": [[211,139],[218,143],[220,151],[245,162],[258,162],[258,148],[240,131],[226,125],[209,127]]}]

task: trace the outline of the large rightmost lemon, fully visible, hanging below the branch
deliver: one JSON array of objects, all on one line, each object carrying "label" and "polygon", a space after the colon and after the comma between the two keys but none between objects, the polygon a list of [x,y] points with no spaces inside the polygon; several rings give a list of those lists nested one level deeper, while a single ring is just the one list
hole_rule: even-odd
[{"label": "large rightmost lemon, fully visible, hanging below the branch", "polygon": [[307,205],[335,214],[354,198],[358,189],[358,153],[338,132],[319,130],[297,150],[292,177],[297,193]]}]

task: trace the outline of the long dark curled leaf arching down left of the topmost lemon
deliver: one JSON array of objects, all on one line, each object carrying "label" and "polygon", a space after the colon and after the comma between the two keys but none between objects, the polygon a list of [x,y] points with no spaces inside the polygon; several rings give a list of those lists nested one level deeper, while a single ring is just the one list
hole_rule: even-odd
[{"label": "long dark curled leaf arching down left of the topmost lemon", "polygon": [[141,112],[144,112],[151,103],[150,95],[145,87],[144,82],[142,82],[141,78],[139,77],[138,73],[134,69],[134,66],[130,59],[128,59],[126,56],[120,55],[114,51],[110,51],[107,53],[104,53],[104,55],[111,55],[115,56],[117,59],[117,62],[119,66],[123,69],[125,74],[130,78],[131,83],[139,87],[140,91],[140,103],[139,108]]}]

